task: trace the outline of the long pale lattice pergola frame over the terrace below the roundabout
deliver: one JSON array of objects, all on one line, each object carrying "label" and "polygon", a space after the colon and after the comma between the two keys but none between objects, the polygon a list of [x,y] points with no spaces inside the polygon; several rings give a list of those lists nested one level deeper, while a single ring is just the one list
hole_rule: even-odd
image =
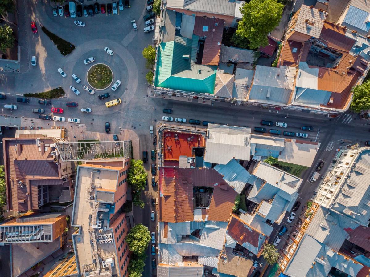
[{"label": "long pale lattice pergola frame over the terrace below the roundabout", "polygon": [[126,141],[59,141],[55,147],[62,161],[117,161],[131,157],[132,143]]}]

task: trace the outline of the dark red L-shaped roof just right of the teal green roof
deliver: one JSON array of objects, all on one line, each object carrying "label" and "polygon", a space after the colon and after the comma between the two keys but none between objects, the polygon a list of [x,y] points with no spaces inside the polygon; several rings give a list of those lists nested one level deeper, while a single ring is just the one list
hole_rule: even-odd
[{"label": "dark red L-shaped roof just right of the teal green roof", "polygon": [[218,65],[225,20],[201,16],[195,17],[193,34],[206,37],[203,50],[203,65]]}]

